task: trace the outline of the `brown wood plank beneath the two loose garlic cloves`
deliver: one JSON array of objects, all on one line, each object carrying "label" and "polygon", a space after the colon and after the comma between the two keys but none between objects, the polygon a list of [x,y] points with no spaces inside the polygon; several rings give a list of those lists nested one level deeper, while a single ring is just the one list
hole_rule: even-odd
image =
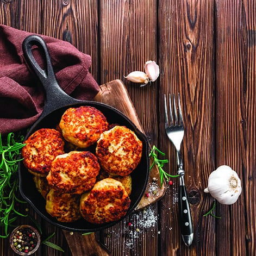
[{"label": "brown wood plank beneath the two loose garlic cloves", "polygon": [[[134,70],[144,70],[147,60],[157,59],[157,2],[101,1],[99,5],[99,50],[101,83],[122,79],[127,86],[136,113],[152,145],[157,143],[157,83],[146,88],[128,83],[123,77]],[[157,216],[156,205],[151,213]],[[147,213],[146,213],[147,214]],[[103,243],[114,255],[156,255],[158,224],[144,227],[143,211],[131,215],[127,223],[105,230]],[[140,232],[136,232],[136,229]],[[109,238],[110,237],[110,238]],[[119,249],[118,249],[119,248]]]}]

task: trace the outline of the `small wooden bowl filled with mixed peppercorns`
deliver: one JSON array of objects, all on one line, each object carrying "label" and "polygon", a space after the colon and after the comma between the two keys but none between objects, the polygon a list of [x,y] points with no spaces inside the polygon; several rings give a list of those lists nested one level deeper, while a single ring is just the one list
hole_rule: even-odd
[{"label": "small wooden bowl filled with mixed peppercorns", "polygon": [[10,246],[18,255],[31,255],[40,246],[40,234],[37,229],[29,225],[21,225],[10,235]]}]

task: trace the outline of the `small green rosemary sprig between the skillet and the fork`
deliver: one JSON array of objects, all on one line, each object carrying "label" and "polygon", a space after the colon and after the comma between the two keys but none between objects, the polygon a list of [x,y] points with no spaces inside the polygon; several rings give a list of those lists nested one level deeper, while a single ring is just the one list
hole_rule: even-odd
[{"label": "small green rosemary sprig between the skillet and the fork", "polygon": [[149,157],[153,157],[153,163],[150,167],[150,170],[153,168],[154,165],[158,166],[159,174],[160,174],[160,183],[161,183],[161,186],[162,186],[163,182],[164,182],[164,178],[168,182],[170,180],[170,177],[171,178],[176,178],[176,177],[179,177],[179,175],[178,174],[177,175],[171,175],[171,174],[164,171],[163,166],[164,166],[164,164],[168,163],[168,159],[159,159],[158,158],[158,153],[160,155],[165,156],[164,152],[160,151],[155,145],[153,145],[153,147],[151,149],[151,152],[149,153]]}]

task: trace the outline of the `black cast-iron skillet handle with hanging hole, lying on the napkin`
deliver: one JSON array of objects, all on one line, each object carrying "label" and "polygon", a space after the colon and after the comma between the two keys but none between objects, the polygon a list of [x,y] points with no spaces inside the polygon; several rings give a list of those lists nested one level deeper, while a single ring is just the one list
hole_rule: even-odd
[{"label": "black cast-iron skillet handle with hanging hole, lying on the napkin", "polygon": [[[43,70],[35,60],[32,52],[33,46],[38,46],[41,50],[40,53],[45,62],[46,70]],[[32,70],[34,70],[46,91],[43,114],[48,114],[52,110],[63,105],[72,104],[75,101],[78,101],[67,95],[67,93],[60,88],[53,71],[51,57],[49,55],[47,45],[41,36],[29,35],[26,39],[24,39],[22,49],[27,63]]]}]

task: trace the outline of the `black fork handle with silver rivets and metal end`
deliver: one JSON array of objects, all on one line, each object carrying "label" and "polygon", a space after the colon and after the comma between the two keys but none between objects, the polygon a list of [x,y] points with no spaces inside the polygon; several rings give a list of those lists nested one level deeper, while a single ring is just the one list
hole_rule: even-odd
[{"label": "black fork handle with silver rivets and metal end", "polygon": [[185,245],[190,246],[193,240],[193,226],[190,205],[188,200],[188,195],[186,193],[186,187],[184,185],[183,176],[180,177],[183,179],[179,186],[179,221],[180,221],[180,232],[182,233],[182,238]]}]

